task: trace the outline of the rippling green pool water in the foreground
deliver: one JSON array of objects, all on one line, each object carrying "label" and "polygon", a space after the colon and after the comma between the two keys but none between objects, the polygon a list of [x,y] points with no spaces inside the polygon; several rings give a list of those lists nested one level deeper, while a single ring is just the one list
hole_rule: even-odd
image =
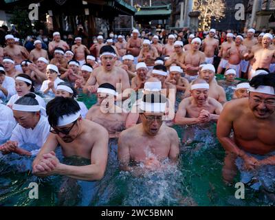
[{"label": "rippling green pool water in the foreground", "polygon": [[[96,96],[80,96],[87,107]],[[179,101],[179,100],[178,100]],[[109,141],[109,160],[101,181],[78,181],[68,177],[38,178],[32,175],[33,157],[0,156],[0,206],[268,206],[263,192],[245,187],[245,199],[235,199],[234,183],[224,184],[221,175],[225,153],[215,135],[216,125],[174,126],[181,142],[179,164],[163,162],[162,170],[134,177],[119,170],[116,139]],[[1,144],[1,143],[0,143]],[[35,148],[35,146],[26,146]],[[58,159],[82,166],[89,159]],[[30,199],[31,182],[39,184],[39,199]]]}]

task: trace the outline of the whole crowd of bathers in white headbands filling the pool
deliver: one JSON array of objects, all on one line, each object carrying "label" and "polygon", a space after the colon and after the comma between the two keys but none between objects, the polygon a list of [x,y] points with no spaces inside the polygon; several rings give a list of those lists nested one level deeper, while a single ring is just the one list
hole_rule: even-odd
[{"label": "whole crowd of bathers in white headbands filling the pool", "polygon": [[[34,175],[94,181],[104,176],[109,139],[118,138],[120,168],[141,175],[161,168],[164,159],[177,164],[173,124],[217,123],[227,183],[237,158],[244,171],[274,166],[274,39],[252,28],[204,35],[134,29],[129,36],[98,34],[89,47],[81,36],[69,44],[54,32],[50,43],[39,37],[30,50],[6,34],[0,47],[2,156],[34,156]],[[234,88],[229,100],[226,87]],[[97,103],[87,109],[76,100],[82,93],[96,94]],[[46,104],[44,97],[52,100]],[[27,151],[22,146],[28,143],[39,148]],[[57,146],[65,157],[91,164],[62,164]]]}]

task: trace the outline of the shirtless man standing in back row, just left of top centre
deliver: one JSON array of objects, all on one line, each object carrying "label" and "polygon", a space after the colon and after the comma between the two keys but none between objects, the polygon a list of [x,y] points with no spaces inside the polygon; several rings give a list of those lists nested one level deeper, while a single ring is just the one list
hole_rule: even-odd
[{"label": "shirtless man standing in back row, just left of top centre", "polygon": [[142,39],[138,38],[140,32],[134,29],[132,32],[133,36],[128,40],[126,45],[126,50],[128,54],[133,55],[135,58],[134,63],[137,64],[137,56],[140,55],[140,50],[142,48]]}]

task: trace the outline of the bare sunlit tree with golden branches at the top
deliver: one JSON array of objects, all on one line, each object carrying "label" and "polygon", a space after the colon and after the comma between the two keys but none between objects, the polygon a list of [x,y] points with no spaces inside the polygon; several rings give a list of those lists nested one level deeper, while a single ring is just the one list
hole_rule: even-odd
[{"label": "bare sunlit tree with golden branches at the top", "polygon": [[195,0],[193,10],[201,12],[199,16],[199,28],[208,30],[211,27],[211,20],[220,21],[225,17],[224,0]]}]

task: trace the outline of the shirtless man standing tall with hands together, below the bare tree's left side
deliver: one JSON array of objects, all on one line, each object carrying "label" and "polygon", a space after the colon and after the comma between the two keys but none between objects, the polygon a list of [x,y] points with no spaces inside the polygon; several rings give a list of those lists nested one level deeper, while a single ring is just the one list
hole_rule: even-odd
[{"label": "shirtless man standing tall with hands together, below the bare tree's left side", "polygon": [[199,65],[205,62],[206,55],[199,51],[199,47],[201,46],[201,39],[195,38],[192,39],[191,50],[188,50],[184,53],[184,65],[181,65],[181,68],[184,69],[185,78],[191,82],[198,76]]}]

